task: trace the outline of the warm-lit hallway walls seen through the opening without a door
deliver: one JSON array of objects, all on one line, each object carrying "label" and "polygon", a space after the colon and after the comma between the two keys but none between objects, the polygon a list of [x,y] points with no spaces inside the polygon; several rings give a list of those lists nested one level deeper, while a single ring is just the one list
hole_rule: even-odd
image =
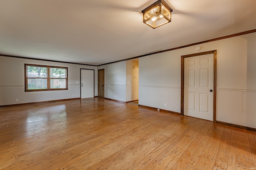
[{"label": "warm-lit hallway walls seen through the opening without a door", "polygon": [[138,100],[139,62],[126,61],[126,102]]}]

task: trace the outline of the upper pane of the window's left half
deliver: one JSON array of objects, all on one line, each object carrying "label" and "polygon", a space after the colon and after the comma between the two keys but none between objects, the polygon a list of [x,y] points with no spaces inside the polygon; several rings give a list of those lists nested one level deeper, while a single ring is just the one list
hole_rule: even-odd
[{"label": "upper pane of the window's left half", "polygon": [[27,66],[27,77],[47,78],[47,67]]}]

